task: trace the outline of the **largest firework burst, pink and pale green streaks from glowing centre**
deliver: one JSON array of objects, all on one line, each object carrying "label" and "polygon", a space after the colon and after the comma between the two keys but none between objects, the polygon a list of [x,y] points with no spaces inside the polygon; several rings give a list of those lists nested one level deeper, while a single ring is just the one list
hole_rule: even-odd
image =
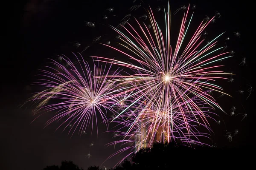
[{"label": "largest firework burst, pink and pale green streaks from glowing centre", "polygon": [[[224,77],[228,73],[219,71],[218,68],[221,68],[222,65],[216,65],[216,61],[232,56],[228,55],[229,52],[218,53],[218,51],[221,51],[224,47],[214,48],[217,42],[216,39],[221,36],[221,34],[206,46],[202,45],[204,40],[200,40],[200,38],[203,31],[215,17],[203,21],[197,31],[195,31],[192,39],[189,40],[188,44],[181,51],[183,40],[188,30],[187,28],[192,20],[191,17],[186,26],[185,21],[188,19],[188,11],[189,7],[183,16],[175,49],[170,45],[170,7],[167,12],[165,11],[165,37],[163,31],[154,19],[151,9],[148,12],[148,18],[150,19],[153,32],[149,31],[145,24],[140,24],[138,20],[136,21],[140,27],[141,34],[139,30],[136,30],[134,26],[131,26],[129,23],[127,23],[127,27],[123,26],[127,34],[117,28],[113,28],[122,36],[120,39],[126,44],[125,47],[133,54],[125,53],[109,45],[107,46],[125,54],[129,59],[135,61],[135,64],[131,64],[115,59],[99,57],[100,61],[108,62],[108,60],[110,60],[109,62],[113,62],[113,64],[120,65],[124,68],[130,68],[132,72],[134,72],[134,74],[128,76],[120,76],[119,80],[113,79],[113,81],[118,82],[120,86],[124,83],[130,83],[130,89],[127,91],[133,91],[133,93],[129,95],[131,100],[130,104],[114,118],[117,119],[125,116],[131,118],[129,123],[128,121],[125,122],[125,125],[129,126],[129,130],[126,132],[125,136],[128,136],[138,122],[143,119],[144,112],[147,112],[146,109],[149,105],[154,107],[154,111],[151,116],[148,115],[151,113],[147,113],[146,115],[150,117],[150,121],[154,123],[159,122],[158,120],[160,118],[156,115],[160,112],[160,108],[163,110],[167,109],[165,112],[168,113],[168,116],[165,116],[163,119],[161,118],[161,122],[164,124],[161,125],[164,127],[163,131],[168,133],[167,141],[172,139],[174,135],[170,135],[170,133],[172,134],[175,130],[184,128],[187,133],[190,134],[193,131],[190,128],[192,125],[189,123],[191,120],[201,119],[204,125],[208,125],[206,118],[209,116],[198,107],[197,100],[195,101],[194,98],[199,99],[201,103],[209,105],[210,108],[216,107],[221,109],[208,92],[217,91],[221,92],[223,95],[225,94],[221,87],[212,82],[217,79],[228,79]],[[200,62],[198,62],[199,60]],[[144,101],[147,103],[146,105],[143,104]],[[171,110],[170,107],[172,107]],[[176,110],[173,110],[173,108]],[[128,111],[128,109],[132,111]],[[174,116],[174,114],[179,116]],[[175,117],[177,118],[176,120]],[[175,122],[177,120],[180,122]],[[119,124],[121,125],[122,123],[119,122]],[[183,127],[180,128],[178,125],[182,125]],[[155,126],[158,127],[160,125]],[[172,128],[170,129],[169,127]],[[135,129],[138,128],[136,127]],[[153,131],[151,133],[154,134],[157,128],[151,128],[148,131]],[[184,134],[186,134],[184,132],[178,134],[180,137],[187,138],[184,136]],[[151,141],[153,141],[153,139]]]}]

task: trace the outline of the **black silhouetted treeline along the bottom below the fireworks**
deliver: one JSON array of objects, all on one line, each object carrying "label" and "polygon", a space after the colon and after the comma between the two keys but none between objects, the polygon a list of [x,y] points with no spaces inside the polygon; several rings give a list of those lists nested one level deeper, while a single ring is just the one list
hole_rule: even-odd
[{"label": "black silhouetted treeline along the bottom below the fireworks", "polygon": [[[155,143],[151,148],[143,148],[135,153],[130,160],[108,170],[170,170],[184,168],[222,169],[224,167],[246,167],[253,148],[236,149],[216,147],[191,147],[186,144]],[[83,170],[72,161],[62,161],[61,166],[47,166],[44,170]],[[105,170],[99,166],[90,166],[87,170]]]}]

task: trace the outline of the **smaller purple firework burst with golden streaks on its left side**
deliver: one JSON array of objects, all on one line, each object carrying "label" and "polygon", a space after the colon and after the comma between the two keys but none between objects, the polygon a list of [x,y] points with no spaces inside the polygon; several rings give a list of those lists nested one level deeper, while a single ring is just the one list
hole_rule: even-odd
[{"label": "smaller purple firework burst with golden streaks on its left side", "polygon": [[46,126],[64,119],[59,127],[69,127],[73,133],[79,130],[84,134],[90,124],[93,127],[100,119],[108,125],[107,110],[114,112],[111,109],[113,103],[109,98],[113,93],[113,83],[107,82],[106,78],[96,77],[108,75],[111,66],[107,68],[107,65],[102,66],[93,61],[93,69],[90,69],[89,63],[83,59],[71,62],[65,56],[61,58],[62,62],[69,63],[67,68],[53,61],[54,67],[47,67],[50,71],[41,71],[45,79],[41,79],[42,82],[37,84],[48,89],[33,96],[33,101],[38,102],[36,113],[41,110],[57,111],[57,114],[46,122]]}]

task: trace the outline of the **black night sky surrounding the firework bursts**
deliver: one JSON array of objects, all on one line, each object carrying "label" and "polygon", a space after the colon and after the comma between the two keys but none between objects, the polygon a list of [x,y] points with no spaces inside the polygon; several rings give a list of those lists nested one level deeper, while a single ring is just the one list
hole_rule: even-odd
[{"label": "black night sky surrounding the firework bursts", "polygon": [[[140,0],[136,3],[139,4]],[[237,106],[239,112],[244,112],[241,107],[243,105],[248,117],[241,122],[241,117],[230,118],[224,113],[219,113],[221,122],[225,124],[217,126],[213,123],[212,129],[215,132],[213,139],[220,147],[244,145],[254,147],[251,142],[254,127],[249,123],[252,122],[254,114],[254,92],[247,100],[248,94],[245,94],[246,96],[237,94],[241,88],[246,91],[249,88],[247,84],[253,86],[255,78],[255,47],[253,48],[255,42],[252,41],[255,15],[249,1],[236,3],[204,0],[197,3],[193,1],[177,3],[177,0],[170,0],[170,3],[172,11],[181,5],[195,4],[197,6],[193,20],[195,23],[201,22],[205,15],[212,16],[215,11],[220,12],[221,17],[207,31],[209,37],[211,34],[217,35],[224,31],[226,31],[224,37],[232,37],[228,42],[228,50],[233,49],[235,57],[224,64],[227,65],[227,71],[236,74],[236,78],[233,83],[223,83],[224,89],[233,98],[224,97],[218,102],[227,113],[233,105]],[[142,3],[144,7],[148,4],[154,9],[157,6],[166,6],[167,0],[144,0],[144,4]],[[133,0],[27,0],[6,7],[10,9],[9,12],[2,11],[2,23],[5,29],[1,32],[3,53],[0,68],[2,80],[0,169],[40,170],[46,165],[60,164],[62,160],[72,160],[79,167],[87,168],[89,165],[102,164],[113,153],[113,147],[105,147],[105,144],[111,142],[111,134],[103,133],[105,130],[103,127],[100,128],[98,137],[93,133],[92,136],[74,135],[70,139],[66,132],[61,133],[61,130],[54,132],[57,125],[52,124],[43,129],[44,122],[50,117],[49,114],[41,116],[30,124],[35,118],[32,115],[32,107],[26,105],[19,108],[19,105],[31,97],[32,92],[38,90],[38,87],[30,84],[36,81],[37,70],[47,65],[49,58],[54,59],[58,54],[71,56],[71,51],[81,52],[84,47],[91,44],[93,38],[101,35],[104,35],[106,40],[111,37],[113,39],[116,34],[109,31],[106,25],[118,23],[122,17],[131,13],[128,11],[131,6]],[[114,7],[113,13],[106,11],[109,7]],[[140,13],[145,12],[143,9],[135,11],[137,15]],[[182,13],[181,11],[175,15],[174,28],[180,26]],[[102,19],[104,15],[108,15],[108,21]],[[157,15],[163,16],[163,13]],[[95,22],[96,27],[85,27],[85,21]],[[241,32],[240,38],[233,35],[236,31]],[[79,48],[73,45],[76,41],[81,43]],[[101,52],[102,50],[104,48],[92,45],[84,57],[92,54],[106,55]],[[246,57],[247,66],[239,66],[242,57]],[[239,136],[234,137],[229,143],[224,136],[224,130],[235,129],[239,129]],[[95,146],[90,149],[91,142],[94,142]],[[87,160],[85,155],[89,149],[92,158]],[[113,167],[117,160],[119,159],[113,158],[103,165]]]}]

